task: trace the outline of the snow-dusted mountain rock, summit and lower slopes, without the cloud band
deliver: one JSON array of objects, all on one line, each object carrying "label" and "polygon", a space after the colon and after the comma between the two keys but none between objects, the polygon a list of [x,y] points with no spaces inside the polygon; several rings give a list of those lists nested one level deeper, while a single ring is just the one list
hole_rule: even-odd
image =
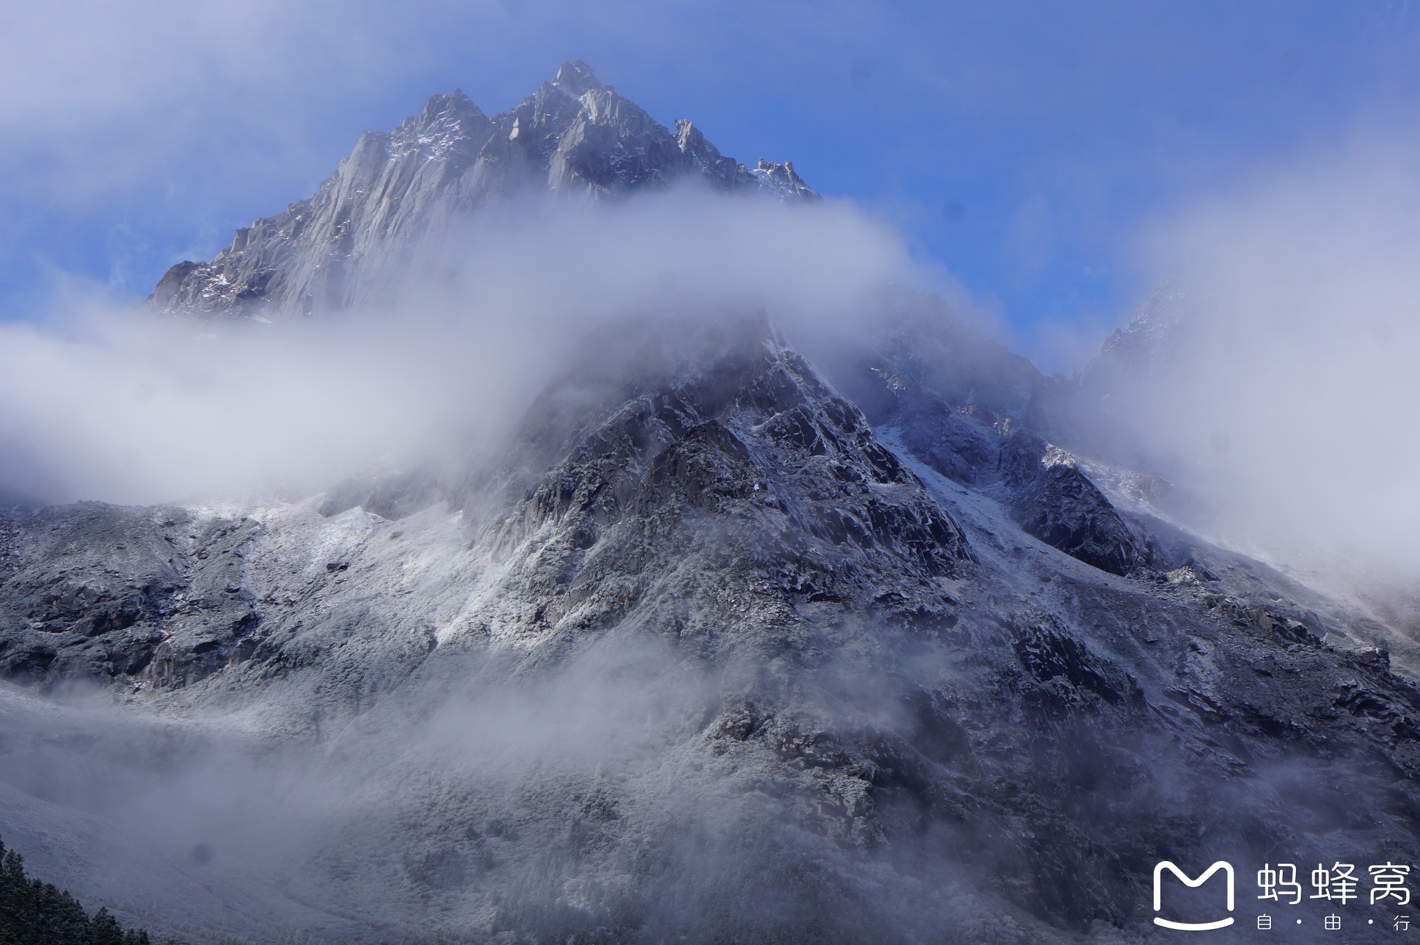
[{"label": "snow-dusted mountain rock, summit and lower slopes, without the cloud band", "polygon": [[[569,63],[491,119],[456,94],[366,135],[152,303],[335,318],[514,190],[680,178],[815,196]],[[628,320],[453,473],[0,514],[0,674],[162,722],[163,770],[219,719],[344,784],[260,870],[111,854],[197,875],[141,905],[213,941],[1152,942],[1162,858],[1414,850],[1420,689],[1387,628],[1150,514],[1062,442],[1062,382],[940,300],[885,287],[853,338]],[[78,830],[53,782],[0,787]]]}]

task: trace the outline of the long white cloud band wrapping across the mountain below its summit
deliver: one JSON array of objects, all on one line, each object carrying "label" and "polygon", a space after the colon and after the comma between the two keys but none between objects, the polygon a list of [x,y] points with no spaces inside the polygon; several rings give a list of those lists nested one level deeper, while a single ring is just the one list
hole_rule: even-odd
[{"label": "long white cloud band wrapping across the mountain below its summit", "polygon": [[0,325],[0,489],[314,492],[496,435],[606,320],[763,307],[816,333],[914,271],[890,230],[834,203],[672,193],[481,223],[393,308],[223,327],[74,303],[57,325]]}]

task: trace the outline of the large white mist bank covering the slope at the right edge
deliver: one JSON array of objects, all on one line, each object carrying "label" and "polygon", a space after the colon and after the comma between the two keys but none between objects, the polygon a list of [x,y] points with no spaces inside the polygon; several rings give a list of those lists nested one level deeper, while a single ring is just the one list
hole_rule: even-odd
[{"label": "large white mist bank covering the slope at the right edge", "polygon": [[1054,435],[1167,480],[1153,513],[1413,637],[1420,385],[1409,165],[1362,136],[1189,210],[1173,274],[1075,382]]}]

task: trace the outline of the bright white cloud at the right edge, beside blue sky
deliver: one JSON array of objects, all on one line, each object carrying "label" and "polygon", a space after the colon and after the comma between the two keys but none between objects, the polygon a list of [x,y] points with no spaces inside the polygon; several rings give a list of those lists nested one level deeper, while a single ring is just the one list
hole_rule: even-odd
[{"label": "bright white cloud at the right edge, beside blue sky", "polygon": [[1277,558],[1413,585],[1420,567],[1420,179],[1367,135],[1274,169],[1154,234],[1193,327],[1132,432]]}]

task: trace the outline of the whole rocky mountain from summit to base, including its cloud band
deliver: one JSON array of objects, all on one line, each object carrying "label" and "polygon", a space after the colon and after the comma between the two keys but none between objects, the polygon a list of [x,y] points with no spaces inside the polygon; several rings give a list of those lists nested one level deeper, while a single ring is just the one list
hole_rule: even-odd
[{"label": "whole rocky mountain from summit to base, including its cloud band", "polygon": [[6,485],[87,500],[0,513],[6,841],[192,942],[1153,942],[1159,860],[1406,861],[1407,627],[1112,399],[1208,321],[1047,377],[914,277],[572,61],[11,333],[74,399],[0,387]]}]

